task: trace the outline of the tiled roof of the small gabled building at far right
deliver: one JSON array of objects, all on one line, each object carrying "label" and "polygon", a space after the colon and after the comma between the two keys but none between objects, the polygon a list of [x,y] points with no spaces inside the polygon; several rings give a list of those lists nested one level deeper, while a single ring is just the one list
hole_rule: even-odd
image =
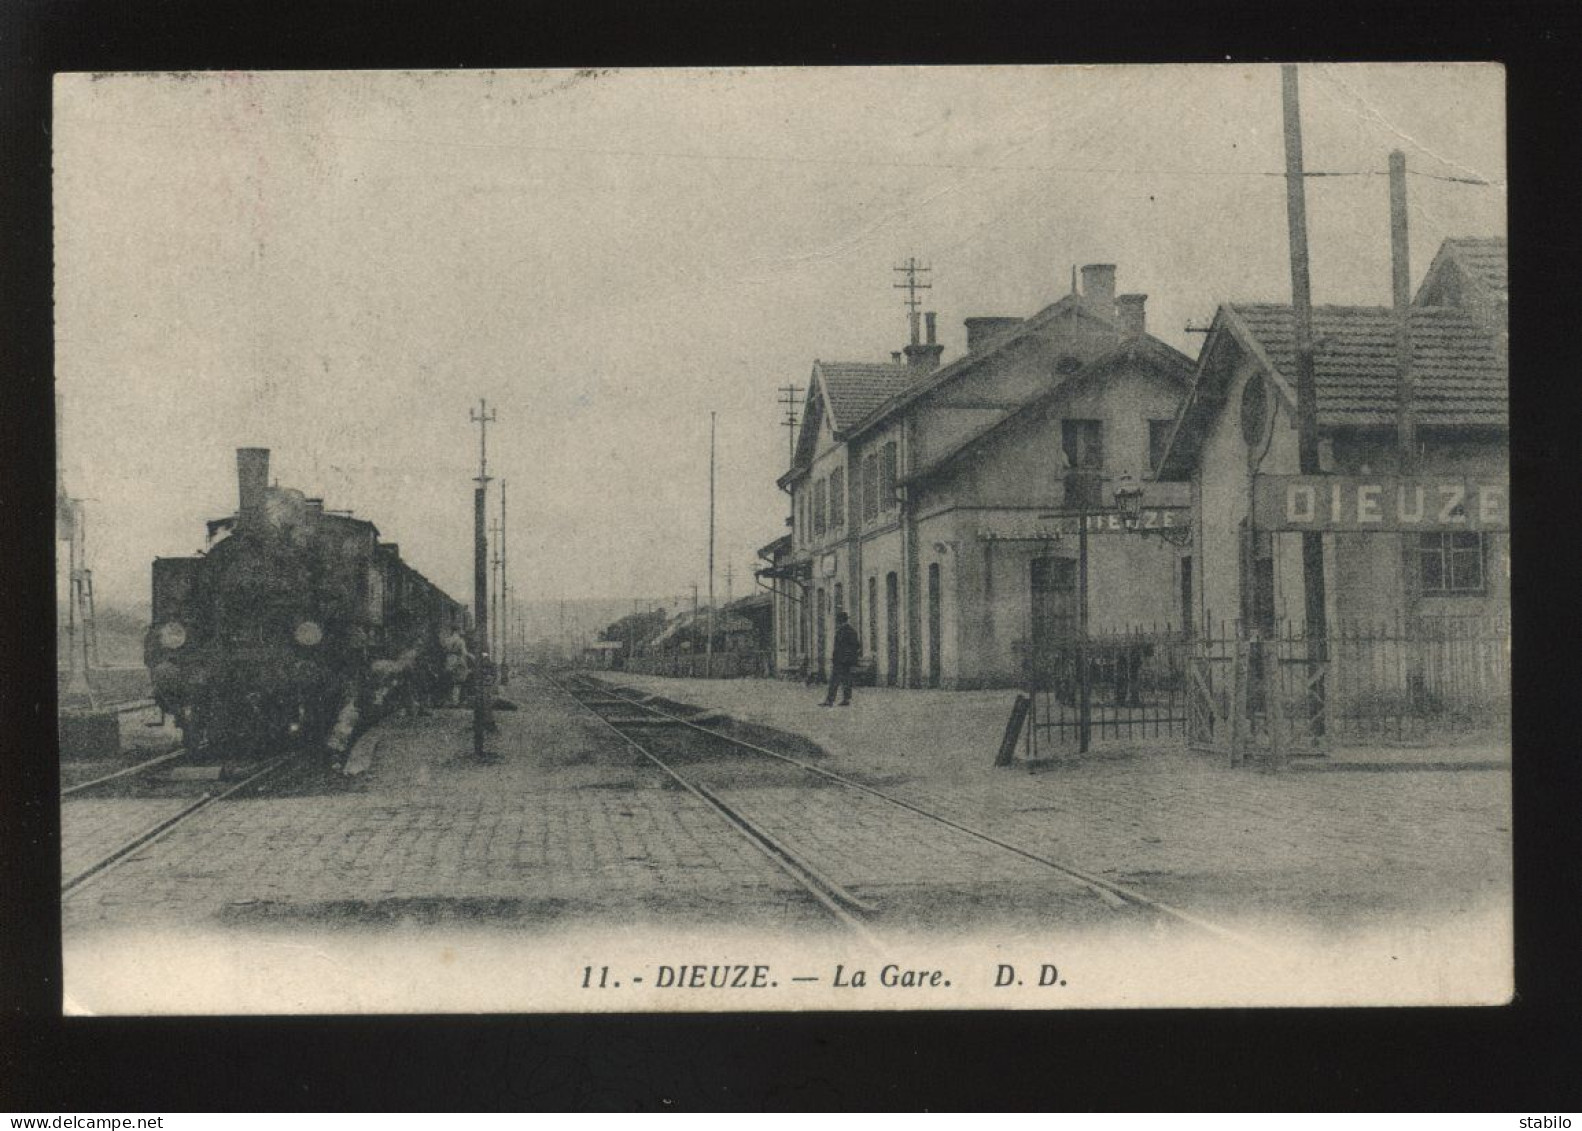
[{"label": "tiled roof of the small gabled building at far right", "polygon": [[[1487,240],[1468,240],[1482,244]],[[1232,305],[1280,376],[1296,386],[1291,307]],[[1315,307],[1319,424],[1395,422],[1395,318],[1386,307]],[[1411,367],[1425,426],[1506,422],[1508,369],[1495,337],[1451,307],[1413,307]]]}]

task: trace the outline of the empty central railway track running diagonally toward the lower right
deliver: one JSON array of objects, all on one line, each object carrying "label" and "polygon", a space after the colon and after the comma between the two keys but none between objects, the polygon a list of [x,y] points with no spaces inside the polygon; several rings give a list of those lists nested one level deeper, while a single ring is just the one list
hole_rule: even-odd
[{"label": "empty central railway track running diagonally toward the lower right", "polygon": [[[683,774],[677,767],[677,759],[674,756],[666,758],[660,750],[655,750],[660,743],[655,742],[653,736],[657,732],[676,732],[677,728],[687,732],[694,732],[699,736],[707,736],[710,742],[728,743],[736,751],[745,751],[756,755],[763,759],[774,759],[778,766],[793,767],[800,774],[816,777],[823,783],[838,786],[843,791],[851,791],[865,799],[878,800],[888,807],[895,808],[900,813],[906,813],[903,818],[906,821],[921,821],[927,827],[933,829],[938,835],[956,835],[976,840],[982,845],[989,845],[998,853],[1005,853],[1022,862],[1030,862],[1039,865],[1049,873],[1058,875],[1069,881],[1073,886],[1087,891],[1095,898],[1101,900],[1104,906],[1117,913],[1142,913],[1156,919],[1169,921],[1177,925],[1186,927],[1196,933],[1213,936],[1221,943],[1231,943],[1239,948],[1250,951],[1264,951],[1266,948],[1255,940],[1247,938],[1237,932],[1228,930],[1213,924],[1201,916],[1191,914],[1180,908],[1171,906],[1149,897],[1134,887],[1117,884],[1114,881],[1104,879],[1103,876],[1095,876],[1082,868],[1076,868],[1063,861],[1050,859],[1043,853],[1031,851],[1020,845],[1011,843],[990,832],[973,827],[944,813],[933,811],[914,802],[910,802],[895,794],[878,789],[865,781],[857,781],[843,774],[824,769],[823,766],[815,766],[802,758],[794,758],[777,750],[769,750],[767,747],[748,742],[737,736],[723,734],[718,729],[706,726],[702,723],[683,718],[674,712],[655,707],[645,702],[644,698],[626,693],[625,688],[611,685],[601,680],[593,680],[585,675],[574,677],[573,683],[547,677],[549,682],[560,691],[574,699],[589,713],[598,718],[606,728],[614,731],[628,747],[636,750],[644,759],[657,766],[663,774],[666,774],[672,781],[687,789],[691,796],[702,800],[715,813],[718,813],[725,821],[728,821],[737,832],[740,832],[748,842],[751,842],[759,851],[763,851],[769,859],[786,872],[793,879],[797,881],[804,889],[807,889],[813,898],[831,913],[831,916],[840,922],[843,927],[853,933],[869,940],[878,941],[875,935],[875,924],[881,917],[881,911],[872,903],[854,895],[848,887],[838,881],[829,878],[824,872],[813,867],[807,859],[797,853],[791,845],[786,843],[783,837],[774,835],[764,824],[755,819],[751,815],[742,811],[739,805],[732,805],[729,800],[721,797],[715,789],[710,789],[696,777]],[[611,710],[626,712],[623,715],[609,713]],[[633,715],[631,712],[639,712]]]}]

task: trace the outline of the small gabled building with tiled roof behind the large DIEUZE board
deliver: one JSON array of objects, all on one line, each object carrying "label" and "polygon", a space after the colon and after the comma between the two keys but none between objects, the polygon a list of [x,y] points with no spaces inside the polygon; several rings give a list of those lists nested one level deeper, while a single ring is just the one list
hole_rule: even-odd
[{"label": "small gabled building with tiled roof behind the large DIEUZE board", "polygon": [[[1438,528],[1324,533],[1332,634],[1381,625],[1424,631],[1425,623],[1427,631],[1440,623],[1443,633],[1446,620],[1508,612],[1509,535],[1478,528],[1479,519],[1503,527],[1508,500],[1481,497],[1476,487],[1503,484],[1508,476],[1506,312],[1506,242],[1446,240],[1408,316],[1417,479],[1429,482],[1429,492],[1406,498],[1403,514],[1443,503],[1467,528],[1446,530],[1425,513],[1424,520]],[[1394,312],[1315,307],[1313,337],[1323,471],[1387,482],[1400,470]],[[1297,470],[1292,310],[1223,305],[1160,468],[1161,479],[1193,489],[1199,562],[1193,604],[1201,628],[1218,633],[1221,625],[1236,625],[1237,633],[1256,630],[1264,637],[1304,633],[1302,539],[1261,531],[1256,514],[1251,524],[1248,517],[1255,476]],[[1457,501],[1457,484],[1473,484],[1473,494]],[[1370,511],[1375,503],[1389,509],[1395,500],[1368,495]]]}]

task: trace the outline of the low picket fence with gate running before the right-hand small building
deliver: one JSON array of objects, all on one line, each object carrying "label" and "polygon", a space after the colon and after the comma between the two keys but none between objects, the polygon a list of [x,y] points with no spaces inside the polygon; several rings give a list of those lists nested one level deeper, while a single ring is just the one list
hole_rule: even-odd
[{"label": "low picket fence with gate running before the right-hand small building", "polygon": [[1503,617],[1348,620],[1323,639],[1292,623],[1139,628],[1035,650],[1027,668],[1035,756],[1039,745],[1185,739],[1234,759],[1498,736],[1511,718]]}]

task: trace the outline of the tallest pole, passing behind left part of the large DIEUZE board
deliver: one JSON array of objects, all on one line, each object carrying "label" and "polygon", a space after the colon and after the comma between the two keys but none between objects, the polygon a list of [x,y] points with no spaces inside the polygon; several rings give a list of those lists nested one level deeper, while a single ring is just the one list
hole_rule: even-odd
[{"label": "tallest pole, passing behind left part of the large DIEUZE board", "polygon": [[[1307,258],[1307,182],[1302,168],[1302,108],[1296,63],[1280,68],[1280,93],[1285,111],[1286,152],[1286,226],[1291,239],[1291,315],[1296,321],[1296,408],[1297,470],[1319,475],[1318,459],[1318,381],[1313,373],[1313,288]],[[1327,658],[1327,615],[1324,609],[1324,536],[1302,531],[1302,604],[1307,626],[1308,687],[1315,696],[1313,710],[1304,710],[1324,734],[1326,688],[1323,663]],[[1270,694],[1280,693],[1278,644],[1270,664]],[[1304,704],[1307,707],[1307,704]]]}]

